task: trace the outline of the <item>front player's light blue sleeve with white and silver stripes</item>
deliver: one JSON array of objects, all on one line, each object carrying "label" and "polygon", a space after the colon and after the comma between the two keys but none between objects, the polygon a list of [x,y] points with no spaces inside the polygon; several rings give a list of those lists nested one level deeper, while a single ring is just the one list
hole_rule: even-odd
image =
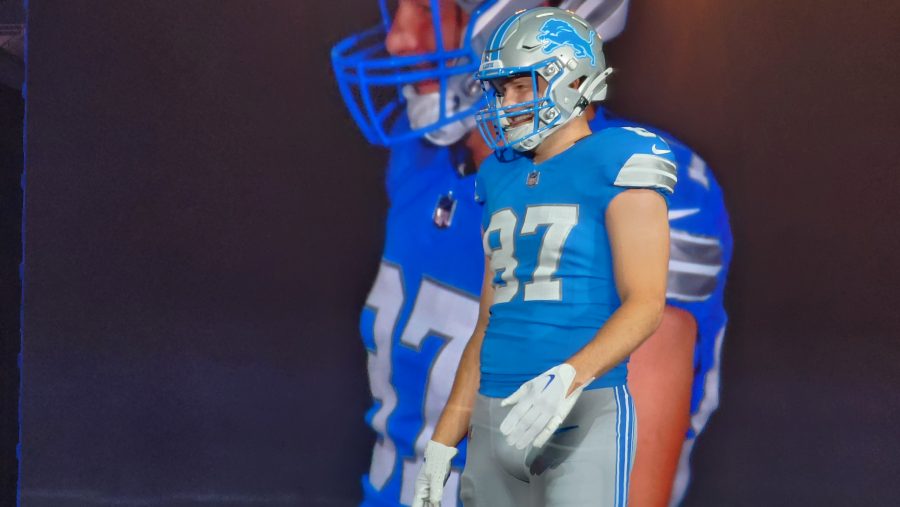
[{"label": "front player's light blue sleeve with white and silver stripes", "polygon": [[672,149],[661,137],[640,127],[620,127],[613,133],[617,147],[610,164],[612,185],[621,188],[652,188],[663,197],[675,192],[677,163]]}]

